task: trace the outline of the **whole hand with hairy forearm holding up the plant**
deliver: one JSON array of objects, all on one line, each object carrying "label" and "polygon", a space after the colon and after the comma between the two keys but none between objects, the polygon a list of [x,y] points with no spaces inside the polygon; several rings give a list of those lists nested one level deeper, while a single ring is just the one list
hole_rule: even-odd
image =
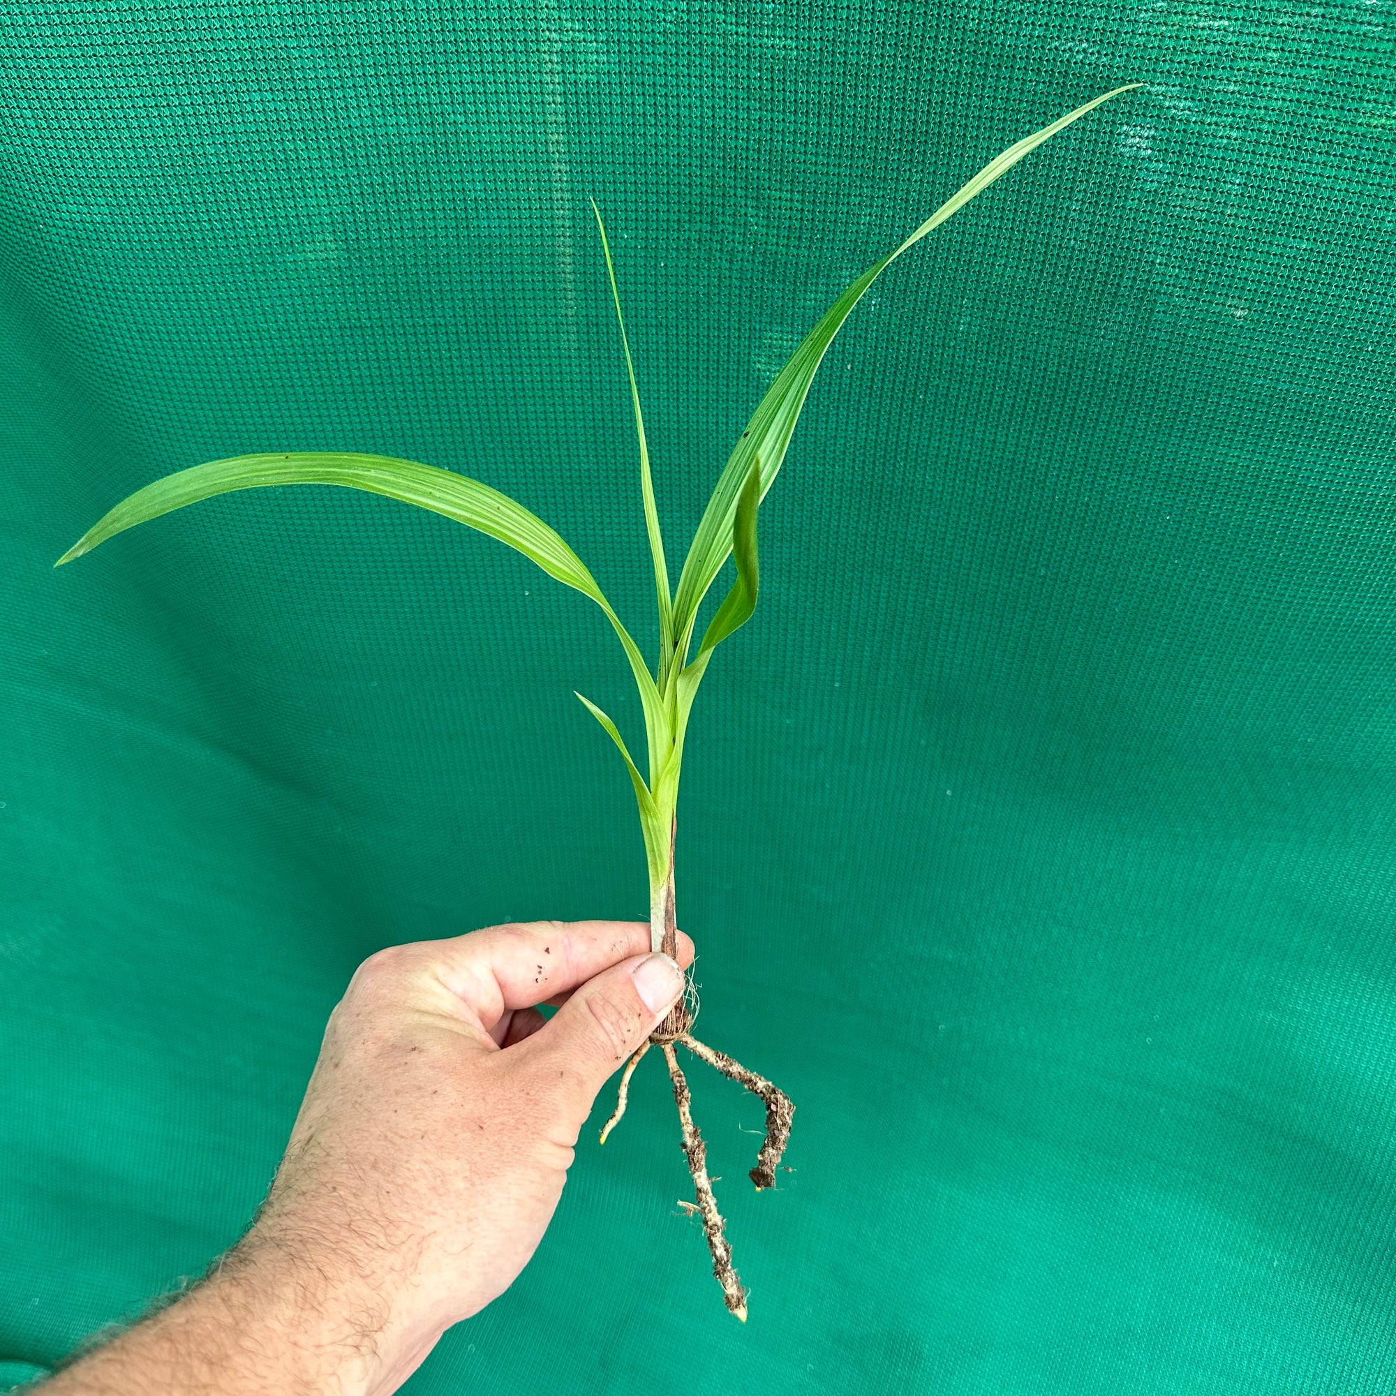
[{"label": "whole hand with hairy forearm holding up the plant", "polygon": [[370,956],[253,1228],[54,1392],[396,1390],[542,1240],[596,1093],[683,988],[648,948],[646,923],[540,921]]}]

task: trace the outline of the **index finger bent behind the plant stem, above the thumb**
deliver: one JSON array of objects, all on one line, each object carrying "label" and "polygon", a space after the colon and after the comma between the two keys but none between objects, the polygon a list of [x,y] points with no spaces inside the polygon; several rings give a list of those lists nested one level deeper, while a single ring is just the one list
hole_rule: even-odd
[{"label": "index finger bent behind the plant stem, above the thumb", "polygon": [[[678,933],[678,960],[692,941]],[[524,921],[490,926],[416,949],[436,977],[480,1015],[486,1030],[508,1011],[532,1008],[649,949],[648,921]]]}]

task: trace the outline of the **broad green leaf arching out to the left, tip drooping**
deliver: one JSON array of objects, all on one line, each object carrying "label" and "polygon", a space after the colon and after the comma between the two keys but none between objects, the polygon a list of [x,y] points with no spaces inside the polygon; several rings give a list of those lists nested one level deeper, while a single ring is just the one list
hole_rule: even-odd
[{"label": "broad green leaf arching out to the left, tip drooping", "polygon": [[441,514],[507,543],[537,563],[549,577],[589,596],[600,606],[620,637],[625,658],[635,674],[641,702],[645,706],[646,729],[664,730],[663,704],[655,680],[645,666],[644,655],[620,623],[620,617],[611,610],[610,602],[596,585],[596,578],[563,537],[507,494],[491,490],[490,486],[469,476],[441,470],[434,465],[422,465],[419,461],[399,461],[395,456],[362,455],[350,451],[236,455],[223,461],[208,461],[188,470],[166,475],[124,498],[98,519],[54,565],[61,567],[84,553],[91,553],[116,533],[159,518],[172,510],[184,508],[186,504],[197,504],[200,500],[229,494],[233,490],[255,490],[278,484],[338,484],[352,490],[367,490],[370,494],[384,494],[391,500],[402,500],[403,504],[415,504],[417,508]]}]

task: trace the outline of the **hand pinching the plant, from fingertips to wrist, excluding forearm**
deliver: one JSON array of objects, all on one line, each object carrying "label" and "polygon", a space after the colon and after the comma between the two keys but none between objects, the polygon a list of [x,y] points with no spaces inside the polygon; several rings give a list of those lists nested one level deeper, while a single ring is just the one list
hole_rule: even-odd
[{"label": "hand pinching the plant, from fingertips to wrist, excluding forearm", "polygon": [[331,1015],[248,1241],[339,1268],[398,1381],[533,1255],[596,1093],[683,988],[648,946],[614,921],[394,945]]}]

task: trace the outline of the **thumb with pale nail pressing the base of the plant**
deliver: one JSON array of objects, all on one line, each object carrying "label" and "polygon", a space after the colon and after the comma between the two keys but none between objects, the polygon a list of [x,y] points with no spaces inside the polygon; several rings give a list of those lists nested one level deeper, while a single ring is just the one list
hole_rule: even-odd
[{"label": "thumb with pale nail pressing the base of the plant", "polygon": [[639,1050],[683,988],[683,970],[667,955],[635,955],[574,990],[515,1050],[556,1074],[581,1125],[606,1078]]}]

